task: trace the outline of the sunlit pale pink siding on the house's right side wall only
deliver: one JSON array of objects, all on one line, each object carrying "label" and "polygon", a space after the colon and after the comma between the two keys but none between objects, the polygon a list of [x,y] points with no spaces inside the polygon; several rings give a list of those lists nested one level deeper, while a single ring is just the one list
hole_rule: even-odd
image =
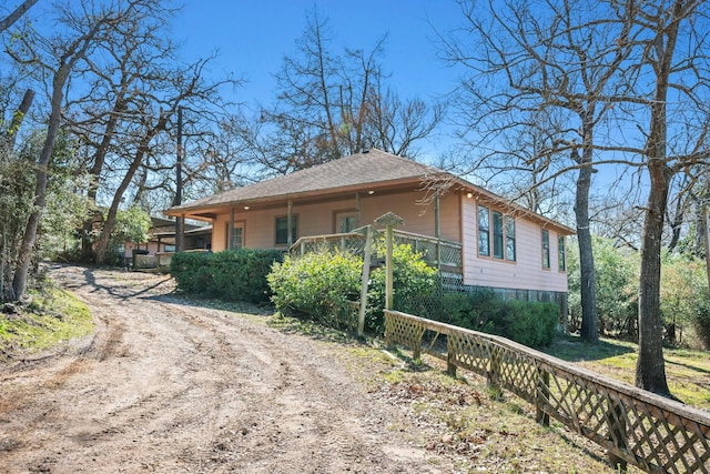
[{"label": "sunlit pale pink siding on the house's right side wall only", "polygon": [[550,269],[542,269],[542,238],[538,223],[516,219],[516,261],[478,255],[476,201],[462,196],[464,284],[567,292],[567,273],[558,270],[558,233],[549,229]]}]

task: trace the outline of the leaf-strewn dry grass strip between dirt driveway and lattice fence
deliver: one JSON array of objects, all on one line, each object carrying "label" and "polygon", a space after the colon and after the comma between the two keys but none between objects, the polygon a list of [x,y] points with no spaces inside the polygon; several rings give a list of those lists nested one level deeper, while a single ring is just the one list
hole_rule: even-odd
[{"label": "leaf-strewn dry grass strip between dirt driveway and lattice fence", "polygon": [[454,379],[442,361],[427,355],[415,363],[398,351],[394,357],[374,347],[348,353],[371,394],[397,406],[407,431],[418,433],[413,443],[455,458],[462,473],[615,472],[596,444],[557,422],[539,425],[531,405],[509,393],[491,393],[483,377],[466,373]]}]

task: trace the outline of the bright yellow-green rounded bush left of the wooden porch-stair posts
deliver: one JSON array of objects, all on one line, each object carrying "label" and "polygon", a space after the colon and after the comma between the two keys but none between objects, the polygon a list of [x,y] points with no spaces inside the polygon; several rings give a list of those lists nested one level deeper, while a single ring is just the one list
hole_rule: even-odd
[{"label": "bright yellow-green rounded bush left of the wooden porch-stair posts", "polygon": [[359,293],[362,270],[362,259],[337,250],[286,256],[267,276],[271,300],[282,312],[338,321],[349,312],[347,297]]}]

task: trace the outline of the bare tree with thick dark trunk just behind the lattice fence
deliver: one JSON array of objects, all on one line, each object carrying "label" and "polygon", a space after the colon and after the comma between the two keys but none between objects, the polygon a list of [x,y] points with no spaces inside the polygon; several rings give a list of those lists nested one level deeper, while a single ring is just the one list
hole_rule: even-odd
[{"label": "bare tree with thick dark trunk just behind the lattice fence", "polygon": [[[660,315],[661,240],[672,177],[710,158],[710,63],[708,6],[669,0],[627,6],[645,37],[639,74],[653,87],[643,98],[650,123],[642,150],[650,188],[641,235],[639,289],[639,359],[636,384],[670,395],[663,363]],[[671,100],[672,99],[672,100]]]}]

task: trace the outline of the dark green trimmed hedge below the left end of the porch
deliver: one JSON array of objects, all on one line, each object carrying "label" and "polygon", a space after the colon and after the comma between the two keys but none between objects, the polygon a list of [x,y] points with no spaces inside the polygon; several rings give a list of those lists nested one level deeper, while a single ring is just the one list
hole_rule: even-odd
[{"label": "dark green trimmed hedge below the left end of the porch", "polygon": [[185,293],[226,301],[265,303],[266,275],[282,254],[277,250],[239,249],[217,253],[181,252],[173,255],[170,273]]}]

